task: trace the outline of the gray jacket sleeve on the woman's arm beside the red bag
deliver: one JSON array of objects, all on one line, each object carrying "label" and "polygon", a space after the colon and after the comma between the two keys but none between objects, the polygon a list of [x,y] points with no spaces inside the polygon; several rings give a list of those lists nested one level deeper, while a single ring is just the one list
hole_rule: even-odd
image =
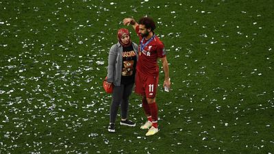
[{"label": "gray jacket sleeve on the woman's arm beside the red bag", "polygon": [[114,73],[115,73],[115,62],[117,57],[117,47],[116,44],[114,44],[110,48],[110,53],[108,54],[108,79],[107,81],[112,83],[114,81]]}]

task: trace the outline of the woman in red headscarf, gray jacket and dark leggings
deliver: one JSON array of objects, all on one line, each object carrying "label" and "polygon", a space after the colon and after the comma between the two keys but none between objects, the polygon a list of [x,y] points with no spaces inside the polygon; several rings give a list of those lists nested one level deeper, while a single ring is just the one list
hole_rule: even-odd
[{"label": "woman in red headscarf, gray jacket and dark leggings", "polygon": [[119,42],[112,45],[108,55],[108,84],[113,84],[112,103],[110,105],[110,125],[108,131],[115,132],[115,120],[121,105],[120,125],[134,127],[128,119],[129,95],[134,86],[138,45],[131,41],[128,29],[119,29]]}]

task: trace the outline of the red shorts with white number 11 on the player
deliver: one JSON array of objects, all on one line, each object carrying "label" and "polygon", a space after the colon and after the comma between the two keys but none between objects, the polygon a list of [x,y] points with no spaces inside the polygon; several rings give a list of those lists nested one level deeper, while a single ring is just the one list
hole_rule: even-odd
[{"label": "red shorts with white number 11 on the player", "polygon": [[135,93],[154,98],[158,87],[159,75],[157,77],[148,76],[136,70],[135,76]]}]

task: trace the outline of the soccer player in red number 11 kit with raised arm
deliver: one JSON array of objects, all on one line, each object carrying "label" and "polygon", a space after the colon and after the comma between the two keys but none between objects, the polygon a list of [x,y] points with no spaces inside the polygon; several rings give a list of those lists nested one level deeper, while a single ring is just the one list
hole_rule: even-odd
[{"label": "soccer player in red number 11 kit with raised arm", "polygon": [[147,122],[140,129],[149,129],[146,136],[152,136],[158,133],[158,106],[155,99],[159,79],[158,58],[161,59],[164,70],[163,86],[166,89],[171,87],[166,51],[164,44],[154,34],[155,22],[152,18],[142,17],[138,23],[134,18],[124,18],[123,24],[132,25],[140,38],[135,92],[142,95],[142,107],[147,115]]}]

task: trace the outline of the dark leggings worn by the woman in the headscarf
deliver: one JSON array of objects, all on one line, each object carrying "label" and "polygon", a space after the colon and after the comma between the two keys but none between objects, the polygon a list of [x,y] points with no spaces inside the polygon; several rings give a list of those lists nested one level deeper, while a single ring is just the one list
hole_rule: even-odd
[{"label": "dark leggings worn by the woman in the headscarf", "polygon": [[129,96],[132,94],[134,84],[114,86],[112,92],[112,104],[110,105],[110,123],[115,123],[117,112],[121,104],[121,118],[127,118]]}]

